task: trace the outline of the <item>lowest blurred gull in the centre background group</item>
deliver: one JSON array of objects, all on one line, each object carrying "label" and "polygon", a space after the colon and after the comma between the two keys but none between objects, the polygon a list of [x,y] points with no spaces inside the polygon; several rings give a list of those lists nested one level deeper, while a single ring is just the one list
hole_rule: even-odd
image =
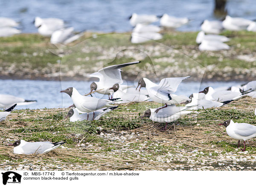
[{"label": "lowest blurred gull in the centre background group", "polygon": [[131,33],[131,43],[140,44],[147,41],[155,41],[162,39],[163,36],[157,32],[132,32]]}]

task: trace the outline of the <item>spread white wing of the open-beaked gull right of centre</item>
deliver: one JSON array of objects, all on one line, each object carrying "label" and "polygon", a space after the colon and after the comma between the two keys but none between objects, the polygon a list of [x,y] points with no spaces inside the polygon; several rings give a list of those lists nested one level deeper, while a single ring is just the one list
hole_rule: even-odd
[{"label": "spread white wing of the open-beaked gull right of centre", "polygon": [[158,84],[159,89],[166,89],[169,91],[169,93],[174,93],[177,90],[177,87],[179,86],[180,82],[183,79],[189,78],[187,77],[180,77],[180,78],[164,78],[160,81]]}]

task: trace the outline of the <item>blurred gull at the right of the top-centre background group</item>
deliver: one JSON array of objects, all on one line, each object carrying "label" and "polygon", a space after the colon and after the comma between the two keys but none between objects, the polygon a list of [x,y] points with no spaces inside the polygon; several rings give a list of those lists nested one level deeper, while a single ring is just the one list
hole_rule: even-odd
[{"label": "blurred gull at the right of the top-centre background group", "polygon": [[178,28],[188,22],[189,22],[189,19],[187,17],[174,17],[174,16],[169,16],[168,14],[164,14],[160,18],[160,25],[163,27],[169,27],[169,28]]}]

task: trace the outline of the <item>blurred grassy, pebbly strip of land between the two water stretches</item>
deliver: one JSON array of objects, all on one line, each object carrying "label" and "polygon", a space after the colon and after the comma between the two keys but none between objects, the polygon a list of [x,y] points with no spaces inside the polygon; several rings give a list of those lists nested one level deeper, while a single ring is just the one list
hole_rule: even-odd
[{"label": "blurred grassy, pebbly strip of land between the two water stretches", "polygon": [[[230,38],[227,42],[230,50],[218,52],[199,51],[195,43],[197,33],[166,31],[157,42],[131,44],[130,33],[85,32],[67,48],[86,41],[81,48],[84,53],[79,53],[80,49],[71,54],[68,50],[57,52],[64,55],[64,60],[49,52],[56,46],[41,35],[0,38],[0,79],[60,80],[61,74],[63,80],[89,81],[89,75],[103,65],[141,60],[146,54],[150,58],[143,57],[141,64],[125,67],[123,79],[129,81],[140,76],[159,81],[166,77],[191,76],[188,81],[201,81],[202,77],[203,81],[256,80],[255,32],[223,32],[222,35]],[[93,35],[96,38],[92,38]],[[157,77],[151,71],[151,64]]]}]

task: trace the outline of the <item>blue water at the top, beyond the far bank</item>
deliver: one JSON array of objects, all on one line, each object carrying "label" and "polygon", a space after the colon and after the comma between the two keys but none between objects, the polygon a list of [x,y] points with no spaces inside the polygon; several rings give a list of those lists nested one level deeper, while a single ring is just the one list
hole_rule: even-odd
[{"label": "blue water at the top, beyond the far bank", "polygon": [[[189,17],[181,31],[200,29],[204,19],[215,19],[214,0],[1,0],[0,16],[20,21],[25,33],[37,32],[35,16],[58,17],[76,31],[125,32],[132,29],[128,17],[133,13]],[[229,0],[229,15],[256,19],[255,0]],[[156,23],[159,24],[159,23]]]}]

